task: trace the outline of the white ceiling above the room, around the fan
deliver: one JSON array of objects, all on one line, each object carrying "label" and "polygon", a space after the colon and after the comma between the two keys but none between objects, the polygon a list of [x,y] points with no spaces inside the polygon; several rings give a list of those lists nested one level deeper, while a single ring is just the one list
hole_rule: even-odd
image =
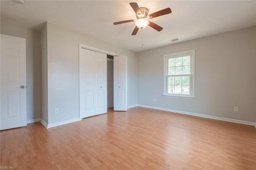
[{"label": "white ceiling above the room, around the fan", "polygon": [[[143,48],[141,30],[131,36],[134,22],[113,24],[136,19],[130,2],[148,8],[149,14],[168,7],[172,10],[171,14],[151,19],[164,28],[161,32],[151,27],[143,29]],[[256,1],[26,0],[22,5],[17,0],[1,0],[2,17],[36,30],[49,21],[132,51],[144,51],[174,43],[169,41],[173,38],[182,42],[255,26]]]}]

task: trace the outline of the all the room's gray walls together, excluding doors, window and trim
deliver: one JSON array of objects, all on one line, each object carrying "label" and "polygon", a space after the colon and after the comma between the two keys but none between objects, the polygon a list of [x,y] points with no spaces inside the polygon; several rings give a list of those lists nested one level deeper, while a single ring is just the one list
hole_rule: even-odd
[{"label": "all the room's gray walls together, excluding doors, window and trim", "polygon": [[[1,17],[0,31],[26,38],[28,121],[42,118],[48,123],[48,113],[49,123],[79,117],[78,44],[82,43],[128,56],[128,107],[138,103],[256,122],[256,27],[138,54],[51,23],[38,32]],[[196,98],[162,97],[163,55],[189,49],[196,50]],[[233,111],[234,106],[239,112]],[[55,108],[59,108],[58,115],[54,115]]]}]

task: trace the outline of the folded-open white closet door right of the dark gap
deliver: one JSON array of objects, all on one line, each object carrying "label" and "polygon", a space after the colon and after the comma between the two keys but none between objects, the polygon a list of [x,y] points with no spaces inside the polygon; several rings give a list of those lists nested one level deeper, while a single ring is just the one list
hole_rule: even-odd
[{"label": "folded-open white closet door right of the dark gap", "polygon": [[127,56],[114,56],[114,111],[127,111]]}]

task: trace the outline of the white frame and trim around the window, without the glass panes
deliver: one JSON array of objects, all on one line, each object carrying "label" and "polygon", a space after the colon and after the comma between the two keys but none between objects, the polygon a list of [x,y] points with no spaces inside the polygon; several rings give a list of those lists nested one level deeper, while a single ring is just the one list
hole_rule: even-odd
[{"label": "white frame and trim around the window, without the glass panes", "polygon": [[[190,55],[190,68],[191,68],[191,78],[190,78],[190,95],[182,95],[182,94],[168,94],[168,58],[172,57],[182,57]],[[164,97],[176,97],[176,98],[184,98],[184,99],[194,99],[195,98],[195,50],[182,51],[177,53],[170,53],[164,55],[164,83],[163,83],[163,96]]]}]

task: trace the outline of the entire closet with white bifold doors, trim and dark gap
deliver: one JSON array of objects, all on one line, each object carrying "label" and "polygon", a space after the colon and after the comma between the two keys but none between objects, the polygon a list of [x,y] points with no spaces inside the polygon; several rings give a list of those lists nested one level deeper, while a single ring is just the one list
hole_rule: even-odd
[{"label": "entire closet with white bifold doors, trim and dark gap", "polygon": [[79,117],[127,111],[127,56],[79,44]]}]

